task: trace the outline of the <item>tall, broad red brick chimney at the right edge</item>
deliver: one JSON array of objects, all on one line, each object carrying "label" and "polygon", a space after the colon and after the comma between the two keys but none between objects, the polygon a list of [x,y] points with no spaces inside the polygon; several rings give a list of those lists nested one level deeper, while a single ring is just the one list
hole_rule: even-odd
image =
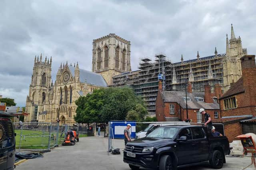
[{"label": "tall, broad red brick chimney at the right edge", "polygon": [[256,101],[256,63],[255,55],[244,55],[240,58],[242,67],[243,86],[248,106],[255,106]]}]

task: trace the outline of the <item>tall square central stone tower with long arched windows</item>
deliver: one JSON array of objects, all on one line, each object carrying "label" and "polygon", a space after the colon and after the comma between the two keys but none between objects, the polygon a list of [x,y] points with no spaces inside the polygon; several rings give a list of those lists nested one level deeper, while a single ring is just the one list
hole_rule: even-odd
[{"label": "tall square central stone tower with long arched windows", "polygon": [[94,39],[92,44],[92,71],[100,73],[108,85],[112,77],[131,71],[130,41],[110,33]]}]

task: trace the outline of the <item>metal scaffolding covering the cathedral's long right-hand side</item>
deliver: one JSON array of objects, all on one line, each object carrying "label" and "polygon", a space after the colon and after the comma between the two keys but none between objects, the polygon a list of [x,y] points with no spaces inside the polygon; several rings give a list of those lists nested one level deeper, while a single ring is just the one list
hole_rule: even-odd
[{"label": "metal scaffolding covering the cathedral's long right-hand side", "polygon": [[158,74],[164,76],[163,89],[184,91],[189,81],[194,92],[204,92],[208,83],[214,90],[215,84],[223,84],[223,62],[226,54],[212,55],[200,59],[172,63],[165,55],[155,55],[152,61],[148,57],[140,59],[138,69],[113,77],[112,86],[130,86],[134,93],[146,102],[148,114],[156,113],[158,92]]}]

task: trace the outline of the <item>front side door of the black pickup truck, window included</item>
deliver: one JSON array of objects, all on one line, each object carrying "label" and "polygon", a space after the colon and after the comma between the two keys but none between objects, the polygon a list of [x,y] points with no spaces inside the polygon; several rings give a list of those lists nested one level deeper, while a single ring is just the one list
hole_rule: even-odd
[{"label": "front side door of the black pickup truck, window included", "polygon": [[194,163],[194,140],[192,139],[192,132],[190,128],[184,128],[180,131],[177,138],[186,136],[187,141],[177,142],[176,153],[178,156],[178,165]]}]

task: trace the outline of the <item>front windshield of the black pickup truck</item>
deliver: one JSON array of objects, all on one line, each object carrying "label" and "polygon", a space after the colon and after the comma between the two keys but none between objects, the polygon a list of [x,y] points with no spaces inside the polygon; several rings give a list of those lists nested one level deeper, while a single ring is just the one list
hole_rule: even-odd
[{"label": "front windshield of the black pickup truck", "polygon": [[176,133],[178,132],[178,128],[176,127],[158,127],[154,131],[152,131],[150,134],[147,135],[147,137],[152,138],[173,138]]}]

